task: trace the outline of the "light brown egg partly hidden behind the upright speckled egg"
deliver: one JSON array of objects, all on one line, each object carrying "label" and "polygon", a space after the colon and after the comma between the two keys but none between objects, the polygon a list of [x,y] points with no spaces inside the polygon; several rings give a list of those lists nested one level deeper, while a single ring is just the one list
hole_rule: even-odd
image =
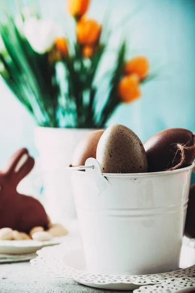
[{"label": "light brown egg partly hidden behind the upright speckled egg", "polygon": [[84,166],[88,158],[96,159],[98,141],[103,132],[104,129],[94,130],[83,138],[73,153],[72,167]]}]

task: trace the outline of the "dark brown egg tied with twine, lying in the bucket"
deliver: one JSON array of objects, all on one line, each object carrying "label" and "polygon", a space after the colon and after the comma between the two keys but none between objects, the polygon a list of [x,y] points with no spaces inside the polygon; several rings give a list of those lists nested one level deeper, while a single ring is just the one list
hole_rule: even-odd
[{"label": "dark brown egg tied with twine, lying in the bucket", "polygon": [[[148,159],[148,171],[158,172],[175,167],[181,162],[181,151],[177,144],[195,145],[195,134],[183,128],[170,128],[153,135],[143,145]],[[178,151],[177,151],[178,150]],[[195,148],[185,150],[185,160],[180,167],[190,166],[195,158]]]}]

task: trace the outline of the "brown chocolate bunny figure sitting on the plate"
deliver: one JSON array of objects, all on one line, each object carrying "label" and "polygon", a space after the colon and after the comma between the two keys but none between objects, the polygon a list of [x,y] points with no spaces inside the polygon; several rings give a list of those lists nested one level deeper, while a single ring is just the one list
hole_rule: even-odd
[{"label": "brown chocolate bunny figure sitting on the plate", "polygon": [[34,164],[28,150],[21,148],[0,171],[0,229],[8,227],[28,233],[35,226],[48,228],[47,214],[40,202],[17,191],[19,182]]}]

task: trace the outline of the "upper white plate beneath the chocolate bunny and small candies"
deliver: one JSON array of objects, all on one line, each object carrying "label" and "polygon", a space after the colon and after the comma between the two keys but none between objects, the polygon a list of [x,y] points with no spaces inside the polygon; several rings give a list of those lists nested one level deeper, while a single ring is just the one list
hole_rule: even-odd
[{"label": "upper white plate beneath the chocolate bunny and small candies", "polygon": [[63,242],[64,237],[55,237],[51,241],[35,240],[0,240],[0,254],[27,254],[35,253],[46,246],[54,246]]}]

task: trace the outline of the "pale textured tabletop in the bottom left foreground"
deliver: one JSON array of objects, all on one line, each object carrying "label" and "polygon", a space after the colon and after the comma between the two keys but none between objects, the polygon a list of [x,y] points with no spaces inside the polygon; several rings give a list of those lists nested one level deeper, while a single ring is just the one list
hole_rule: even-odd
[{"label": "pale textured tabletop in the bottom left foreground", "polygon": [[64,281],[42,274],[28,262],[0,265],[0,293],[104,293],[82,286],[74,281]]}]

